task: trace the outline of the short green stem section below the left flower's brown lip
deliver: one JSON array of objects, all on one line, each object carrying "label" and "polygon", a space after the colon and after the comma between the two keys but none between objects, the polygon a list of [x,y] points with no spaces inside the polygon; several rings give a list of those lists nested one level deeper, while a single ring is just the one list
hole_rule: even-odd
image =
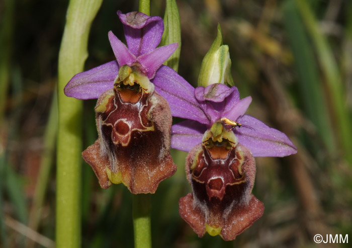
[{"label": "short green stem section below the left flower's brown lip", "polygon": [[151,228],[150,228],[150,194],[133,195],[133,230],[134,247],[151,247]]}]

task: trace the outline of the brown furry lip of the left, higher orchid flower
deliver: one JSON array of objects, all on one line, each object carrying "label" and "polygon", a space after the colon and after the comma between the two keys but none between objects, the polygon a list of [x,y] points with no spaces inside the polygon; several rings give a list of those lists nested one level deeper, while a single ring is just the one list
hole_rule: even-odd
[{"label": "brown furry lip of the left, higher orchid flower", "polygon": [[82,156],[100,186],[123,183],[133,194],[155,193],[177,170],[169,152],[172,117],[166,100],[138,68],[125,65],[95,111],[99,138]]}]

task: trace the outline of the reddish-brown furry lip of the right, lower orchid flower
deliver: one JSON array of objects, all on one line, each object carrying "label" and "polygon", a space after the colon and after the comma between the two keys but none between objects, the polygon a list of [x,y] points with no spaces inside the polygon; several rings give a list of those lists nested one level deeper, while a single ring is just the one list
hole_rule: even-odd
[{"label": "reddish-brown furry lip of the right, lower orchid flower", "polygon": [[215,137],[206,131],[186,158],[186,175],[193,193],[180,199],[179,211],[199,237],[208,232],[233,240],[263,214],[251,194],[254,157],[232,131],[221,128]]}]

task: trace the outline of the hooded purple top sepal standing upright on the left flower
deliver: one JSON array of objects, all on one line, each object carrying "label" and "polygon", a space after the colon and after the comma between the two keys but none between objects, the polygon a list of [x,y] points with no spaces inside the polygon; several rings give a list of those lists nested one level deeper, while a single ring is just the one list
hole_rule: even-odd
[{"label": "hooded purple top sepal standing upright on the left flower", "polygon": [[160,43],[164,25],[161,17],[149,17],[141,12],[117,12],[125,32],[129,50],[136,56],[153,51]]}]

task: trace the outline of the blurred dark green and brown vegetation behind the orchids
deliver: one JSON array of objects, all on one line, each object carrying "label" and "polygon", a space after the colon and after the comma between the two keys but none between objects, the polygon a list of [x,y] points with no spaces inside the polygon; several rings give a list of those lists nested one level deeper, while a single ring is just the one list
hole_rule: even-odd
[{"label": "blurred dark green and brown vegetation behind the orchids", "polygon": [[[313,236],[352,239],[352,1],[178,0],[179,73],[196,86],[219,22],[232,75],[248,114],[285,132],[298,153],[256,158],[253,194],[266,210],[234,241],[203,238],[178,214],[191,191],[186,152],[152,196],[153,247],[314,247]],[[53,247],[57,57],[68,1],[0,2],[0,247]],[[151,1],[151,15],[165,3]],[[116,11],[137,1],[105,0],[93,23],[86,69],[114,59]],[[97,138],[95,100],[84,101],[83,147]],[[67,144],[69,145],[69,144]],[[102,190],[82,159],[82,246],[133,247],[131,195]],[[337,244],[337,246],[340,246]]]}]

